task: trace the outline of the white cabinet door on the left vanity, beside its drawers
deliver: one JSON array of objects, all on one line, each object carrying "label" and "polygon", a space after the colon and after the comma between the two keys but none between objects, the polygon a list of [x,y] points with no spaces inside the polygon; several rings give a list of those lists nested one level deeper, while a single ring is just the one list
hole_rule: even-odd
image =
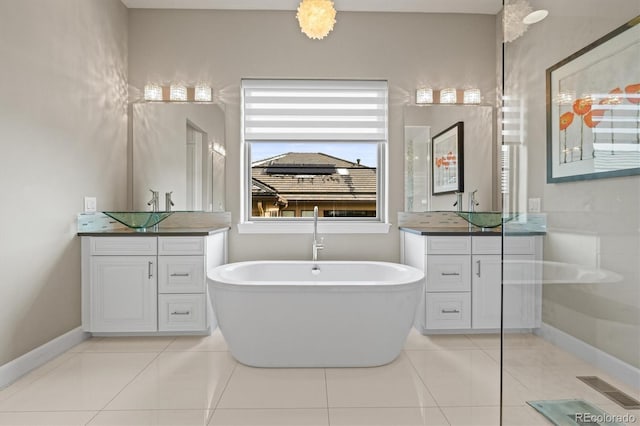
[{"label": "white cabinet door on the left vanity, beside its drawers", "polygon": [[155,256],[91,256],[92,332],[157,330]]}]

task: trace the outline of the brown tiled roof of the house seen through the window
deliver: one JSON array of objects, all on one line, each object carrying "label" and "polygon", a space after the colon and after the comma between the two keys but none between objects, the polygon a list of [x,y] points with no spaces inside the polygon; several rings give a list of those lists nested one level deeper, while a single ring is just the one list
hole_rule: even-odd
[{"label": "brown tiled roof of the house seen through the window", "polygon": [[323,153],[289,152],[256,161],[252,179],[254,195],[277,194],[289,201],[376,200],[375,167]]}]

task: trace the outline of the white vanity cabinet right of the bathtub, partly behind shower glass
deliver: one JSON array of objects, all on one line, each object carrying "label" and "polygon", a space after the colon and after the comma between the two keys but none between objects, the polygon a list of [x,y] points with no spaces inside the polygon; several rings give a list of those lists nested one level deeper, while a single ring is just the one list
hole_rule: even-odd
[{"label": "white vanity cabinet right of the bathtub, partly behind shower glass", "polygon": [[[402,262],[425,271],[426,286],[416,315],[423,333],[488,332],[540,325],[540,236],[420,235],[401,232]],[[525,284],[526,283],[526,284]]]}]

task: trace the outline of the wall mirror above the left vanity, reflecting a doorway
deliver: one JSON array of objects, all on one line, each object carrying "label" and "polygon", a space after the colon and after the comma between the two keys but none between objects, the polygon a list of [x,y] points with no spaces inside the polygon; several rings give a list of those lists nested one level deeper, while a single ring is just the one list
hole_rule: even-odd
[{"label": "wall mirror above the left vanity, reflecting a doorway", "polygon": [[134,210],[151,209],[153,190],[160,195],[160,210],[224,211],[224,168],[220,106],[133,105]]}]

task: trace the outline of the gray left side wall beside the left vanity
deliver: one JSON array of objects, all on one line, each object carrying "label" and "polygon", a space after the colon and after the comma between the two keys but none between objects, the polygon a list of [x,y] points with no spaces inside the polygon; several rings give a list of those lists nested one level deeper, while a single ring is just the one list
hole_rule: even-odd
[{"label": "gray left side wall beside the left vanity", "polygon": [[0,2],[0,365],[80,325],[83,196],[126,203],[127,10]]}]

